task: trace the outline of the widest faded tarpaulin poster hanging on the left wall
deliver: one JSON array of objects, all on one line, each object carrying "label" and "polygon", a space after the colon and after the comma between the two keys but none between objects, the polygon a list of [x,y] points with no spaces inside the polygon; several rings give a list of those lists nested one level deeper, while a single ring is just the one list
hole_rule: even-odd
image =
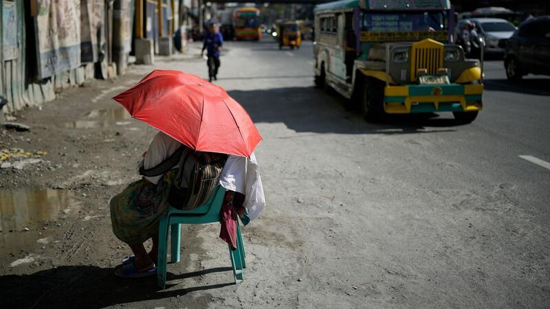
[{"label": "widest faded tarpaulin poster hanging on the left wall", "polygon": [[39,78],[80,66],[80,0],[36,0]]}]

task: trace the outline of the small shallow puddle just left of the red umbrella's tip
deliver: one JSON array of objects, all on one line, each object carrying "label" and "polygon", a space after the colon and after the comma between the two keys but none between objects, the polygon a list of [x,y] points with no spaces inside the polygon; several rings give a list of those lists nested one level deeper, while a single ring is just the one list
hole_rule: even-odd
[{"label": "small shallow puddle just left of the red umbrella's tip", "polygon": [[[121,120],[132,119],[132,116],[124,108],[101,108],[94,109],[85,116],[87,119],[79,119],[74,122],[66,122],[65,128],[107,128],[113,122],[117,125],[126,125],[131,122],[121,122]],[[97,118],[97,119],[88,119]]]}]

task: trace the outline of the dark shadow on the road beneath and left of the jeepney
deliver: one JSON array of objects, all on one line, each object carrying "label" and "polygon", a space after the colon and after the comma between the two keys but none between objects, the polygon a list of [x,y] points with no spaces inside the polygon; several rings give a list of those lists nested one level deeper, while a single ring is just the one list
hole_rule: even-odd
[{"label": "dark shadow on the road beneath and left of the jeepney", "polygon": [[[288,87],[264,90],[229,91],[256,123],[283,122],[298,133],[406,134],[454,131],[451,113],[387,115],[379,123],[365,122],[358,111],[349,108],[349,100],[329,95],[314,87]],[[427,130],[437,127],[438,130]]]}]

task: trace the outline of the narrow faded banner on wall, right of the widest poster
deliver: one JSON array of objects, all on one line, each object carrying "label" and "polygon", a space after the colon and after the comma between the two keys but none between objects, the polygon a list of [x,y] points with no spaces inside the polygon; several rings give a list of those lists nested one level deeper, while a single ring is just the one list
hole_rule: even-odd
[{"label": "narrow faded banner on wall, right of the widest poster", "polygon": [[80,60],[83,63],[98,62],[99,44],[104,41],[104,3],[104,0],[80,0]]}]

